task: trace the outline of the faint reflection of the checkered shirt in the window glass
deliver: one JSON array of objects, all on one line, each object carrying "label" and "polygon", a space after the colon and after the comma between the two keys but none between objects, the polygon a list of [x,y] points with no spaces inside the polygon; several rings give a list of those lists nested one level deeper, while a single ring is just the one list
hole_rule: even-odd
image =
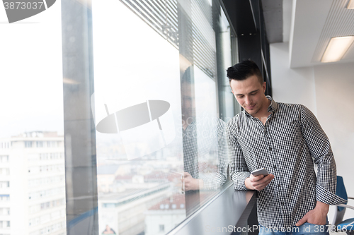
[{"label": "faint reflection of the checkered shirt in the window glass", "polygon": [[204,190],[216,190],[227,179],[226,123],[204,116],[183,131],[184,171],[202,179]]}]

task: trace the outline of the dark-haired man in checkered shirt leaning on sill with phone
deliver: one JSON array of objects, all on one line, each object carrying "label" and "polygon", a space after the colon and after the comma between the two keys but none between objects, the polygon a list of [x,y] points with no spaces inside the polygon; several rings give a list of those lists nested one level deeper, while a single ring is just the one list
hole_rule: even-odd
[{"label": "dark-haired man in checkered shirt leaning on sill with phone", "polygon": [[[227,123],[234,189],[258,191],[258,222],[263,227],[284,231],[305,222],[326,224],[329,205],[346,200],[335,195],[336,163],[314,114],[302,104],[265,96],[266,84],[251,60],[228,68],[227,77],[244,109]],[[268,176],[250,174],[263,167]]]}]

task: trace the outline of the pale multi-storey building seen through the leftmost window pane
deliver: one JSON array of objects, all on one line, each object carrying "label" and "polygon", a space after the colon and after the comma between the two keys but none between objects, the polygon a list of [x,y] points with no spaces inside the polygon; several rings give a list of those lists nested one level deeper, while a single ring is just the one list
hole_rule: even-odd
[{"label": "pale multi-storey building seen through the leftmost window pane", "polygon": [[65,234],[63,136],[1,138],[0,162],[0,234]]}]

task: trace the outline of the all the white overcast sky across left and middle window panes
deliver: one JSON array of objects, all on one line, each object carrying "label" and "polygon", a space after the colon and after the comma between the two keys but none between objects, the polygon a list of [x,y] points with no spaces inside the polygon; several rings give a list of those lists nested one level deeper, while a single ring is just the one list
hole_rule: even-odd
[{"label": "all the white overcast sky across left and middle window panes", "polygon": [[[0,6],[0,137],[64,132],[60,4],[11,24]],[[96,97],[110,112],[145,100],[166,100],[178,122],[178,49],[120,1],[93,1],[92,7]],[[100,120],[106,115],[101,111],[96,112]]]}]

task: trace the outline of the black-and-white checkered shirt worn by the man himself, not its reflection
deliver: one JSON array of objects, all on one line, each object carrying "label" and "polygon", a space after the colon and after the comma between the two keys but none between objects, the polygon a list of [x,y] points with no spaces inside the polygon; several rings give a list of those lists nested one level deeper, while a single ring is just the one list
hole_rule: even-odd
[{"label": "black-and-white checkered shirt worn by the man himself, not its reflection", "polygon": [[[270,100],[265,125],[245,110],[227,123],[230,175],[235,190],[247,190],[250,172],[265,167],[275,178],[258,191],[257,215],[264,227],[295,226],[316,201],[345,203],[335,195],[336,162],[326,133],[302,104]],[[314,171],[317,164],[317,176]]]}]

